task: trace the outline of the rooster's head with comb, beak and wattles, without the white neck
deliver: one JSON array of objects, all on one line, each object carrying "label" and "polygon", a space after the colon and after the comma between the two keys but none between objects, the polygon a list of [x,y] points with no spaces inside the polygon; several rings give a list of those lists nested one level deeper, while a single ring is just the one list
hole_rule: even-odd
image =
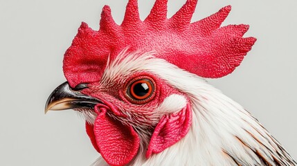
[{"label": "rooster's head with comb, beak and wattles, without the white neck", "polygon": [[191,129],[194,98],[180,75],[228,75],[255,43],[243,37],[247,25],[220,27],[231,6],[190,23],[196,4],[186,1],[168,19],[167,1],[156,0],[141,21],[137,1],[129,0],[120,25],[105,6],[100,29],[82,23],[66,50],[67,82],[50,95],[46,111],[82,113],[93,147],[109,165],[126,165],[138,154],[150,158],[179,142]]}]

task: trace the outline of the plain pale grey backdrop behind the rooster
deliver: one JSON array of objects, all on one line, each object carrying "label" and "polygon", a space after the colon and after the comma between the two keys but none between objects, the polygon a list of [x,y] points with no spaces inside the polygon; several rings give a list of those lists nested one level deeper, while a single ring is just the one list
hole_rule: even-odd
[{"label": "plain pale grey backdrop behind the rooster", "polygon": [[[185,0],[169,0],[171,17]],[[95,30],[107,4],[118,24],[127,0],[0,1],[0,165],[90,165],[98,153],[74,111],[44,115],[44,104],[65,81],[64,51],[81,21]],[[139,0],[141,19],[154,1]],[[200,0],[192,21],[233,7],[227,24],[249,24],[258,38],[241,66],[209,80],[258,118],[297,158],[297,1]],[[197,149],[199,150],[199,149]]]}]

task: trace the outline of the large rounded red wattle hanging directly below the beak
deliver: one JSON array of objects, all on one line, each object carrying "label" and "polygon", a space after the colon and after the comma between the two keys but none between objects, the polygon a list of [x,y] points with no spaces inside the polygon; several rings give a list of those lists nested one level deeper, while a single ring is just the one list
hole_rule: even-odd
[{"label": "large rounded red wattle hanging directly below the beak", "polygon": [[98,113],[93,131],[100,154],[109,165],[126,165],[136,156],[140,142],[136,131],[110,118],[106,109]]}]

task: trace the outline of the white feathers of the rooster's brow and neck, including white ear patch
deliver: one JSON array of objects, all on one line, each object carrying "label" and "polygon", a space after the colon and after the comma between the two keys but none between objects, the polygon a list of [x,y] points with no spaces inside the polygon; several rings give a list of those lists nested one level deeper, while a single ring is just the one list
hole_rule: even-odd
[{"label": "white feathers of the rooster's brow and neck, including white ear patch", "polygon": [[[145,151],[141,151],[129,165],[296,165],[287,151],[240,104],[197,75],[154,58],[153,54],[124,50],[107,65],[103,82],[112,84],[118,77],[144,71],[160,77],[190,99],[192,127],[185,138],[168,149],[150,158],[145,158]],[[185,105],[183,96],[170,95],[156,112],[173,113]],[[94,165],[102,163],[105,161],[99,158]]]}]

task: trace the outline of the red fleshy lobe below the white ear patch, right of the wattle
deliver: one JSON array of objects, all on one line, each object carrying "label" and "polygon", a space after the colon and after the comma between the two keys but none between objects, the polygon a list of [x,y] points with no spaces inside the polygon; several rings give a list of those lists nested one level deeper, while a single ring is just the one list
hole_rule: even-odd
[{"label": "red fleshy lobe below the white ear patch, right of the wattle", "polygon": [[191,124],[192,110],[190,104],[187,104],[178,113],[163,116],[154,129],[145,155],[146,158],[152,154],[160,153],[181,140],[188,133]]}]

